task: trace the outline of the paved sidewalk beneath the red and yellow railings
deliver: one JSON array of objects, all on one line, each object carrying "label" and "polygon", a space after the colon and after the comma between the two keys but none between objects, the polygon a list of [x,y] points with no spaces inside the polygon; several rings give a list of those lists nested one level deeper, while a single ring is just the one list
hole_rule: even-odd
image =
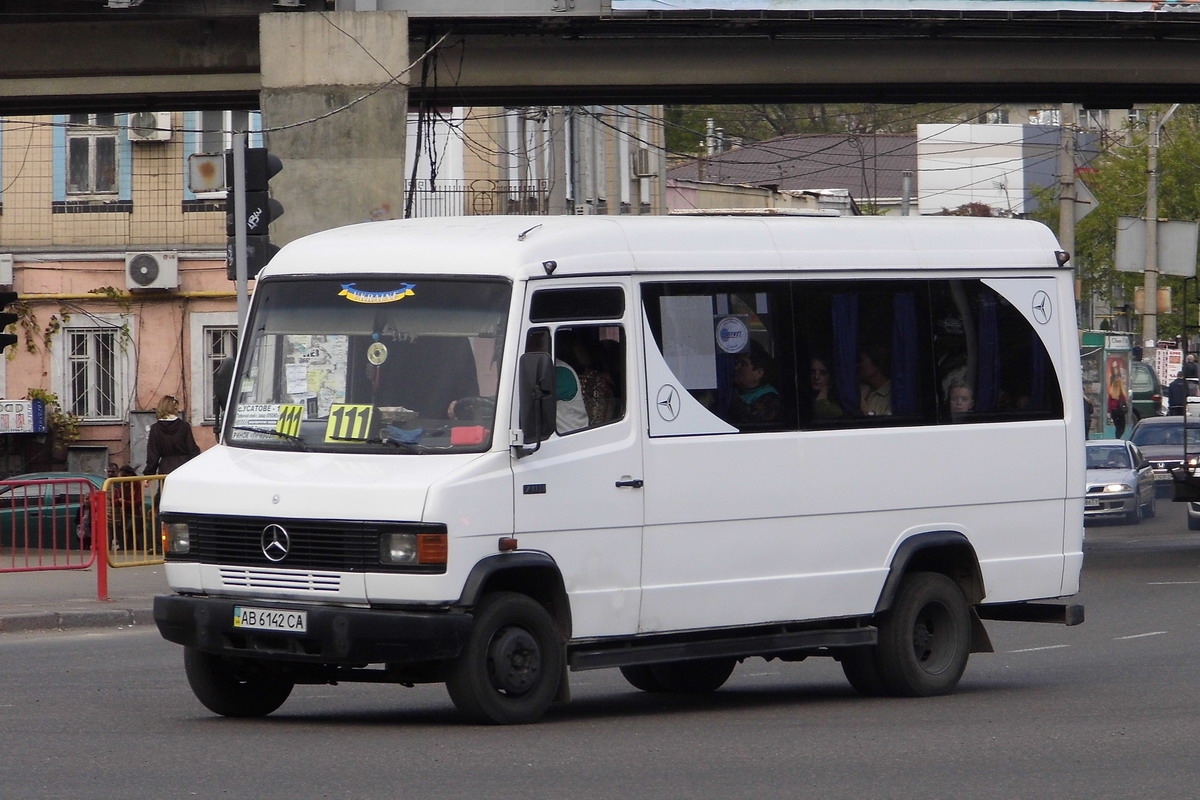
[{"label": "paved sidewalk beneath the red and yellow railings", "polygon": [[108,570],[108,601],[96,600],[96,567],[0,572],[0,634],[154,625],[154,596],[169,594],[164,567]]}]

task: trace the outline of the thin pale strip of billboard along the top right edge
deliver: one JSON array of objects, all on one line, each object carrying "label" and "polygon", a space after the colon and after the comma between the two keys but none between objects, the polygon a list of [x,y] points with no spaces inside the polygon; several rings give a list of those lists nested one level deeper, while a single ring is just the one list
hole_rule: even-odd
[{"label": "thin pale strip of billboard along the top right edge", "polygon": [[610,0],[614,13],[659,11],[1196,11],[1200,0]]}]

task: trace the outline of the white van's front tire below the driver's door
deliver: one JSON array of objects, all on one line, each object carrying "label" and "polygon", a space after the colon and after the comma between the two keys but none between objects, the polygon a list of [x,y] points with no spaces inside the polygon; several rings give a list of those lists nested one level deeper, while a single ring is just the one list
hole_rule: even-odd
[{"label": "white van's front tire below the driver's door", "polygon": [[473,722],[535,722],[558,694],[564,658],[563,638],[550,613],[532,597],[499,591],[476,608],[446,691]]}]

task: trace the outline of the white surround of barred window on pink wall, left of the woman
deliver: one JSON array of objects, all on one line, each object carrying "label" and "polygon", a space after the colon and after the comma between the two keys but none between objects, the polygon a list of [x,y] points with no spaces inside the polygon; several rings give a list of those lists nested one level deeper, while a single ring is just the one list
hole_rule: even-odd
[{"label": "white surround of barred window on pink wall, left of the woman", "polygon": [[[134,397],[137,386],[136,353],[137,347],[133,341],[133,315],[132,314],[85,314],[76,312],[71,323],[64,325],[55,335],[52,348],[54,359],[54,372],[52,386],[58,395],[65,411],[79,414],[77,398],[71,393],[71,368],[73,357],[71,354],[72,333],[101,333],[113,335],[113,414],[79,414],[84,422],[114,423],[125,422]],[[84,409],[90,410],[90,409]]]}]

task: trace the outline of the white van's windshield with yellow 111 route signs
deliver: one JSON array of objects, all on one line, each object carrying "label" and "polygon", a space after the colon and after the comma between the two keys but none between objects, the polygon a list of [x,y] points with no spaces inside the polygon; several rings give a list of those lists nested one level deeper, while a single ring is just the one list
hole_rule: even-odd
[{"label": "white van's windshield with yellow 111 route signs", "polygon": [[334,452],[491,446],[511,285],[395,278],[264,281],[226,441]]}]

